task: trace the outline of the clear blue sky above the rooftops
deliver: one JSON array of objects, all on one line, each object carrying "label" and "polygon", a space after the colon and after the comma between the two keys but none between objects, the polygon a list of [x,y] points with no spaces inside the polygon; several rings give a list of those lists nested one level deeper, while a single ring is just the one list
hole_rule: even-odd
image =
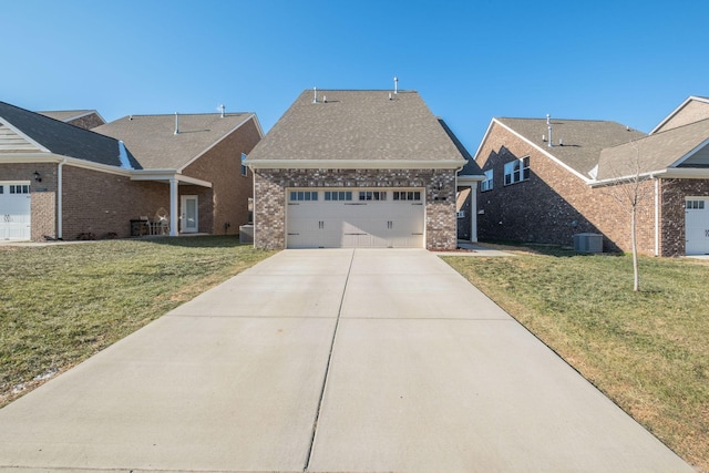
[{"label": "clear blue sky above the rooftops", "polygon": [[29,110],[256,112],[305,89],[417,90],[474,152],[493,116],[650,131],[709,95],[709,2],[6,1],[0,100]]}]

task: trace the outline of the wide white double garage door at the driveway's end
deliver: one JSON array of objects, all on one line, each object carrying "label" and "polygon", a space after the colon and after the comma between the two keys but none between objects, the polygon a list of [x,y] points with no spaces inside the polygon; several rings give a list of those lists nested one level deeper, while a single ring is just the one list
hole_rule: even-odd
[{"label": "wide white double garage door at the driveway's end", "polygon": [[288,248],[422,248],[423,189],[288,189]]}]

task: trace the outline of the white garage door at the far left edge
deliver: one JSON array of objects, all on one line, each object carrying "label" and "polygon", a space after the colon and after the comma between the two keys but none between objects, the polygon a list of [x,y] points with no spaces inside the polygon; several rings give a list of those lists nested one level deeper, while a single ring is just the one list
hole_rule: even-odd
[{"label": "white garage door at the far left edge", "polygon": [[30,239],[30,185],[0,183],[0,240]]}]

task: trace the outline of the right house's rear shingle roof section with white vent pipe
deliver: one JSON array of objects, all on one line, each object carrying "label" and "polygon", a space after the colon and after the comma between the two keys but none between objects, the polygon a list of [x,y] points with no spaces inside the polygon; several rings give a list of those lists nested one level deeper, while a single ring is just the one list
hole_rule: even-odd
[{"label": "right house's rear shingle roof section with white vent pipe", "polygon": [[[616,122],[595,120],[552,119],[554,146],[548,147],[542,136],[548,140],[546,119],[496,119],[526,140],[543,147],[547,153],[572,169],[589,178],[588,172],[597,164],[600,151],[625,144],[646,136],[645,133],[627,128]],[[559,146],[559,138],[564,146]]]}]

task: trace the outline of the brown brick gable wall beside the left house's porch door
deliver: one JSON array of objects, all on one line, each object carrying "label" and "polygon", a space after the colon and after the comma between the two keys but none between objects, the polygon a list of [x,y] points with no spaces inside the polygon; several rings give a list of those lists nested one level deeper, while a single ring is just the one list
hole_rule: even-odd
[{"label": "brown brick gable wall beside the left house's porch door", "polygon": [[[210,192],[199,194],[201,232],[238,235],[239,225],[248,223],[254,179],[250,173],[242,176],[242,153],[250,153],[259,140],[256,123],[250,120],[184,169],[186,176],[212,183]],[[189,193],[181,188],[181,194]]]}]

